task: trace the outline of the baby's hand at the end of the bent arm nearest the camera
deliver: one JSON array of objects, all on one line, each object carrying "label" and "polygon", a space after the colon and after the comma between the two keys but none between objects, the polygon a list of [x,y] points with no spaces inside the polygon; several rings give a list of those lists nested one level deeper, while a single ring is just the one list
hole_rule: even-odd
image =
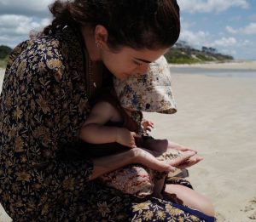
[{"label": "baby's hand at the end of the bent arm nearest the camera", "polygon": [[135,132],[131,132],[127,128],[118,128],[117,130],[117,143],[131,148],[137,147],[135,143],[135,137],[137,136],[137,134]]}]

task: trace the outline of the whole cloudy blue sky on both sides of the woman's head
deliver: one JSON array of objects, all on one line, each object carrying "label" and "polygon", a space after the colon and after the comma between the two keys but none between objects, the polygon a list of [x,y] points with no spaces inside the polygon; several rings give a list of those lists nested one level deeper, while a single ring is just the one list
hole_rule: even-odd
[{"label": "whole cloudy blue sky on both sides of the woman's head", "polygon": [[[0,45],[14,48],[51,20],[54,0],[0,0]],[[127,0],[128,1],[128,0]],[[236,60],[256,60],[256,0],[177,0],[179,40],[193,48],[216,48]]]}]

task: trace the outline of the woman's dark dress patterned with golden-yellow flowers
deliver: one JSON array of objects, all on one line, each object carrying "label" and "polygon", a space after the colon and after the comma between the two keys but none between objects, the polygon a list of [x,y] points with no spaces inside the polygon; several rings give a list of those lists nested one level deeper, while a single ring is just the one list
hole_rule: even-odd
[{"label": "woman's dark dress patterned with golden-yellow flowers", "polygon": [[62,157],[90,111],[89,66],[77,33],[66,27],[28,40],[10,56],[0,98],[3,208],[15,221],[212,221],[89,181],[90,159]]}]

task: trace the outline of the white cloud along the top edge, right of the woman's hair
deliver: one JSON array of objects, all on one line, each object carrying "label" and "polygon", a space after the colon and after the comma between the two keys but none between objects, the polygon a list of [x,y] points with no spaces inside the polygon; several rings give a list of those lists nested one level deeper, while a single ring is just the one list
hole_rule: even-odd
[{"label": "white cloud along the top edge, right of the woman's hair", "polygon": [[195,13],[195,12],[222,12],[231,7],[241,7],[247,9],[249,4],[247,0],[180,0],[179,5],[182,10]]}]

